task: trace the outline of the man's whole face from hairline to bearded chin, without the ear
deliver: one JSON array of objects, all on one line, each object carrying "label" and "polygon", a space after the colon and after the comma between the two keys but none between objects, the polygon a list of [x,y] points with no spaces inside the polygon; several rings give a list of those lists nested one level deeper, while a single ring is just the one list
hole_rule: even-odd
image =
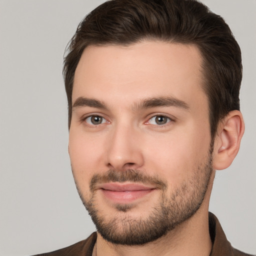
[{"label": "man's whole face from hairline to bearded chin, without the ear", "polygon": [[212,172],[207,97],[194,45],[87,47],[77,65],[69,155],[101,236],[142,244],[200,207]]}]

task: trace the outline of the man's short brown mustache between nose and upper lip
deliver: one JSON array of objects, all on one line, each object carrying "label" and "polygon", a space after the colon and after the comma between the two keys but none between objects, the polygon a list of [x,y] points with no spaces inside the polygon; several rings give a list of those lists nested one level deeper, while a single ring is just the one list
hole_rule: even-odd
[{"label": "man's short brown mustache between nose and upper lip", "polygon": [[165,190],[167,188],[167,182],[158,177],[157,175],[147,175],[141,170],[127,169],[124,171],[116,171],[109,169],[103,174],[94,174],[90,179],[90,190],[93,192],[96,190],[97,183],[108,183],[108,182],[134,182],[134,183],[145,183],[154,185],[157,189]]}]

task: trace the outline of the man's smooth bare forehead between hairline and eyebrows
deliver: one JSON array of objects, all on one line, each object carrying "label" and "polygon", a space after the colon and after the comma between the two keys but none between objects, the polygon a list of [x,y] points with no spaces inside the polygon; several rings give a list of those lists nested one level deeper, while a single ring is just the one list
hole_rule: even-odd
[{"label": "man's smooth bare forehead between hairline and eyebrows", "polygon": [[201,62],[192,44],[143,41],[88,46],[75,70],[72,102],[80,96],[109,102],[121,98],[119,103],[152,96],[200,100],[206,97]]}]

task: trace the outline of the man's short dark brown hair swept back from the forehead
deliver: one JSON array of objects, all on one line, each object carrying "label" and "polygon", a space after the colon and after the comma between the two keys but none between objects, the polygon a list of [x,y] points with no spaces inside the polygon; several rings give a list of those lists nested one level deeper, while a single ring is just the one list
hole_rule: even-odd
[{"label": "man's short dark brown hair swept back from the forehead", "polygon": [[144,39],[191,43],[199,48],[213,138],[218,121],[229,111],[239,110],[241,52],[223,18],[196,0],[109,0],[86,15],[71,38],[64,58],[68,126],[74,72],[84,48],[129,45]]}]

